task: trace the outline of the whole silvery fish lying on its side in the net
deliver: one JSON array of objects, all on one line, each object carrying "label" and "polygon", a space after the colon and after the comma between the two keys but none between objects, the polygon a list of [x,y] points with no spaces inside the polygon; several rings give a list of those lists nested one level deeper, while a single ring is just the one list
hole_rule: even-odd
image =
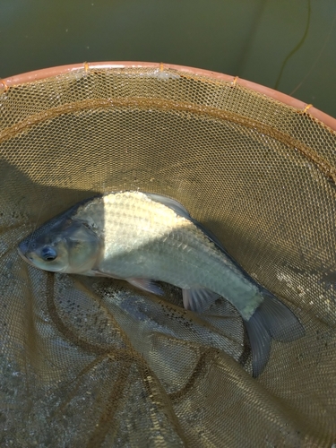
[{"label": "whole silvery fish lying on its side in the net", "polygon": [[175,199],[140,191],[101,194],[48,220],[18,246],[23,260],[45,271],[126,280],[162,295],[182,289],[185,309],[202,313],[218,297],[241,315],[262,374],[271,340],[305,334],[297,316],[228,254],[220,240]]}]

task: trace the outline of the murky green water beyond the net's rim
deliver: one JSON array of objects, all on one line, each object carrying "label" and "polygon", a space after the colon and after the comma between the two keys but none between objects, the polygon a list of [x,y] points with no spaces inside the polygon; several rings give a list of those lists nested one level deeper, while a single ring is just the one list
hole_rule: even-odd
[{"label": "murky green water beyond the net's rim", "polygon": [[336,1],[1,0],[0,77],[113,60],[238,75],[336,116]]}]

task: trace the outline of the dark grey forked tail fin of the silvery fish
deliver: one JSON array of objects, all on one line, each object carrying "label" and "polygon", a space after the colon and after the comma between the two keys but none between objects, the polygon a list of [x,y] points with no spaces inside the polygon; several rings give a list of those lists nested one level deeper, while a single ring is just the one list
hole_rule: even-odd
[{"label": "dark grey forked tail fin of the silvery fish", "polygon": [[263,303],[255,310],[246,324],[252,349],[254,377],[263,372],[270,356],[271,338],[281,342],[297,340],[305,334],[297,316],[277,297],[263,289]]}]

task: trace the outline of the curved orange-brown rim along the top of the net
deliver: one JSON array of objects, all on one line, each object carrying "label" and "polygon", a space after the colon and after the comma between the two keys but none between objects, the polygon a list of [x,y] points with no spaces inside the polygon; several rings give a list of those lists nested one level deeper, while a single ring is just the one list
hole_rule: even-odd
[{"label": "curved orange-brown rim along the top of the net", "polygon": [[58,65],[55,67],[44,68],[40,70],[35,70],[33,72],[27,72],[22,74],[17,74],[10,76],[5,79],[0,79],[0,90],[7,90],[11,87],[24,84],[26,82],[34,82],[38,80],[43,80],[53,76],[57,76],[64,73],[71,73],[73,71],[90,69],[113,69],[113,68],[152,68],[162,70],[176,70],[178,72],[191,73],[193,75],[200,75],[211,78],[212,80],[230,82],[233,85],[240,85],[246,89],[257,91],[271,99],[276,99],[281,103],[290,106],[291,108],[296,108],[297,111],[305,112],[314,118],[317,118],[324,125],[330,127],[333,131],[336,131],[336,118],[329,116],[322,112],[321,110],[314,108],[312,104],[307,104],[304,101],[295,99],[282,93],[278,90],[273,90],[269,87],[265,87],[256,82],[251,82],[238,78],[237,76],[231,76],[219,72],[211,72],[210,70],[203,70],[202,68],[188,67],[185,65],[174,65],[174,64],[163,64],[163,63],[153,63],[153,62],[135,62],[135,61],[112,61],[112,62],[91,62],[73,65]]}]

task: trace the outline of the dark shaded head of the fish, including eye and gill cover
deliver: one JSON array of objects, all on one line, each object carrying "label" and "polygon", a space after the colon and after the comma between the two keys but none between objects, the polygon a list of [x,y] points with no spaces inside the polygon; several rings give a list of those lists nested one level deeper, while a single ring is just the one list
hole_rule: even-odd
[{"label": "dark shaded head of the fish, including eye and gill cover", "polygon": [[44,271],[84,273],[99,260],[102,244],[86,222],[48,222],[19,245],[22,258]]}]

